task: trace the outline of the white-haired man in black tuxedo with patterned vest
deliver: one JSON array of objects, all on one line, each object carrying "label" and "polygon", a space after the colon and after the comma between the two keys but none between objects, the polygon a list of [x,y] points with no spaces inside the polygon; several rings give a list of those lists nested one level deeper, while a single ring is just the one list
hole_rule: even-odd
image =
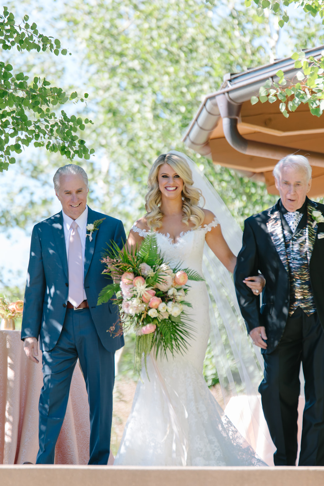
[{"label": "white-haired man in black tuxedo with patterned vest", "polygon": [[[264,358],[259,392],[277,448],[274,464],[296,462],[302,363],[306,404],[299,465],[323,466],[324,205],[307,198],[306,157],[284,157],[273,174],[280,199],[245,221],[235,285],[247,330]],[[261,307],[244,283],[245,275],[257,271],[266,278]]]}]

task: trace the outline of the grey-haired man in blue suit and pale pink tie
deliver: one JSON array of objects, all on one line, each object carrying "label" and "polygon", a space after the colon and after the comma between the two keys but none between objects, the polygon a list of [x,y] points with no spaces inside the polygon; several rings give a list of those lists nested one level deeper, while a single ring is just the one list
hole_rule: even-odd
[{"label": "grey-haired man in blue suit and pale pink tie", "polygon": [[121,248],[126,236],[121,221],[86,205],[88,179],[81,167],[60,167],[53,182],[62,211],[34,226],[21,327],[28,358],[38,363],[38,337],[43,353],[36,464],[54,463],[78,358],[90,408],[89,464],[107,464],[114,354],[124,340],[117,306],[97,306],[97,300],[109,283],[102,252],[111,241]]}]

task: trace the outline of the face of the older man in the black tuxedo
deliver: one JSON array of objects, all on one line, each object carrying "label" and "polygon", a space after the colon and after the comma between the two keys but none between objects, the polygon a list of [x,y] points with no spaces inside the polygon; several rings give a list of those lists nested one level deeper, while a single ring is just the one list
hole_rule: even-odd
[{"label": "face of the older man in the black tuxedo", "polygon": [[283,167],[280,179],[275,179],[282,204],[290,212],[303,206],[310,186],[311,179],[307,180],[306,171],[295,167]]}]

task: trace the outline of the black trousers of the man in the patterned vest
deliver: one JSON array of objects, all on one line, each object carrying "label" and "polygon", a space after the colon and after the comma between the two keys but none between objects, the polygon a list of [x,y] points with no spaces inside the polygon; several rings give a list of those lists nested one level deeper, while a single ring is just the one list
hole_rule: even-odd
[{"label": "black trousers of the man in the patterned vest", "polygon": [[324,466],[324,330],[317,313],[300,307],[288,318],[276,349],[263,354],[262,408],[273,443],[275,466],[295,466],[300,364],[305,409],[299,466]]}]

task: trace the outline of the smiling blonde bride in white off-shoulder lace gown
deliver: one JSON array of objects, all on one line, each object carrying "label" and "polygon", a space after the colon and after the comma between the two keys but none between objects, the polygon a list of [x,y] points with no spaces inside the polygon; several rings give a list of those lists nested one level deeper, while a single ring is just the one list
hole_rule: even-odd
[{"label": "smiling blonde bride in white off-shoulder lace gown", "polygon": [[[217,217],[198,206],[202,193],[195,188],[186,156],[160,155],[149,174],[147,214],[132,227],[128,246],[142,243],[150,228],[172,264],[202,271],[207,243],[233,273],[236,257],[222,235]],[[193,164],[192,161],[190,161]],[[245,283],[258,295],[262,277]],[[265,466],[213,398],[203,364],[210,333],[209,298],[205,282],[190,281],[193,328],[188,349],[174,357],[155,359],[151,353],[128,418],[115,465],[136,466]]]}]

